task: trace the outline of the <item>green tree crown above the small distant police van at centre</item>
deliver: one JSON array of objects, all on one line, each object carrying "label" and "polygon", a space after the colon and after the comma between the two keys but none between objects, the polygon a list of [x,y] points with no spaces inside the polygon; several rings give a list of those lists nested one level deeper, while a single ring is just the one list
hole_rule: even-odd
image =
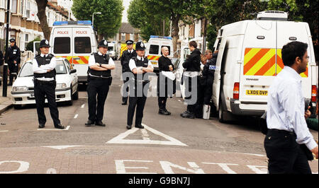
[{"label": "green tree crown above the small distant police van at centre", "polygon": [[163,20],[165,21],[164,35],[169,35],[169,18],[145,10],[142,0],[130,1],[128,8],[128,22],[139,28],[143,40],[149,40],[150,35],[163,35]]}]

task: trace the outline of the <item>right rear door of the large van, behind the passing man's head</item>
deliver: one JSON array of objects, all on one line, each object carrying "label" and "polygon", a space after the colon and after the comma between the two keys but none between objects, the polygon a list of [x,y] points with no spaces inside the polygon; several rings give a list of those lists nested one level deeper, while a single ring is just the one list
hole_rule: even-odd
[{"label": "right rear door of the large van, behind the passing man's head", "polygon": [[[298,29],[296,29],[298,28]],[[313,56],[310,53],[310,45],[312,45],[310,32],[308,33],[308,25],[306,23],[297,22],[284,22],[278,21],[277,23],[277,41],[278,41],[278,51],[279,51],[279,61],[276,73],[279,74],[281,69],[284,68],[284,63],[281,60],[281,49],[284,45],[289,42],[299,41],[308,44],[308,67],[307,70],[301,74],[302,77],[302,90],[303,96],[305,98],[311,98],[311,62],[315,62]]]}]

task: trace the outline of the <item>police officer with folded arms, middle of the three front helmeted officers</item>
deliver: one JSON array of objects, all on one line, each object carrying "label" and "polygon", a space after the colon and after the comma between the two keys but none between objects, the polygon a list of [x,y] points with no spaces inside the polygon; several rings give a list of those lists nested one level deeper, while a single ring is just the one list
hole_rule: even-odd
[{"label": "police officer with folded arms, middle of the three front helmeted officers", "polygon": [[102,122],[104,103],[112,83],[111,70],[116,68],[113,59],[106,54],[108,51],[108,42],[106,40],[101,40],[98,48],[99,52],[93,53],[89,57],[87,79],[89,120],[85,124],[86,127],[94,126],[94,123],[97,126],[106,126]]}]

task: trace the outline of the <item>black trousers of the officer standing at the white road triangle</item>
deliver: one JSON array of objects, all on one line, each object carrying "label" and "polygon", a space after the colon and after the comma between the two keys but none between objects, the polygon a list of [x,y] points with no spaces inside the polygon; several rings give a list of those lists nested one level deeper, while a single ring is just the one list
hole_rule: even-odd
[{"label": "black trousers of the officer standing at the white road triangle", "polygon": [[[143,87],[148,88],[149,84],[143,83]],[[135,113],[135,108],[136,108],[136,116],[135,116],[135,126],[142,124],[142,118],[143,118],[143,110],[145,107],[145,102],[147,99],[147,92],[142,93],[141,96],[138,96],[137,94],[137,86],[135,85],[134,92],[130,93],[129,99],[128,99],[128,125],[133,124],[133,117]],[[135,95],[132,95],[132,94]]]}]

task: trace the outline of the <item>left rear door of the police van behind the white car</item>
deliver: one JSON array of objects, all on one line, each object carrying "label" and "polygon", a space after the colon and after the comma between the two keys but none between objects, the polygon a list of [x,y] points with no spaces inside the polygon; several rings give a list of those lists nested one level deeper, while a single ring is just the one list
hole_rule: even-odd
[{"label": "left rear door of the police van behind the white car", "polygon": [[72,63],[72,28],[53,27],[53,54],[55,57],[65,57]]}]

